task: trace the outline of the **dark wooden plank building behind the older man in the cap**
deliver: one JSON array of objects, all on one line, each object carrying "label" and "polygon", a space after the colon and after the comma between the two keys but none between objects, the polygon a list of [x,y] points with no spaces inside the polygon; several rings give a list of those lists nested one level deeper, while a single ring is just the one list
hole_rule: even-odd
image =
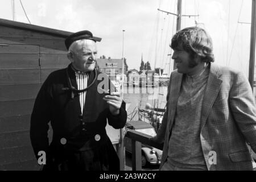
[{"label": "dark wooden plank building behind the older man in the cap", "polygon": [[[64,39],[70,34],[0,19],[0,170],[39,169],[29,137],[30,115],[49,73],[69,64]],[[107,131],[117,148],[121,132]]]}]

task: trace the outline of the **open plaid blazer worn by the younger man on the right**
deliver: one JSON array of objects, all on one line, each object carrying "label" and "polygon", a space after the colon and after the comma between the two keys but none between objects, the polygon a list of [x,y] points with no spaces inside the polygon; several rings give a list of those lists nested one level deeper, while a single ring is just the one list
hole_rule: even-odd
[{"label": "open plaid blazer worn by the younger man on the right", "polygon": [[[183,74],[172,72],[167,109],[153,140],[164,142],[160,168],[166,162],[171,129]],[[243,73],[210,64],[201,110],[201,147],[208,170],[251,170],[253,159],[247,144],[256,152],[256,107],[249,81]],[[209,158],[215,151],[217,163]]]}]

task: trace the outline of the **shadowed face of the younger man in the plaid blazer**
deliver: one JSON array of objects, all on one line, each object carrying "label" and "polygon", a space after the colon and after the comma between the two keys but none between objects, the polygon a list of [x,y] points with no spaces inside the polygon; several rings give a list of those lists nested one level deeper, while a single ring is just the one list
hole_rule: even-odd
[{"label": "shadowed face of the younger man in the plaid blazer", "polygon": [[175,61],[177,72],[179,73],[193,75],[193,73],[197,71],[198,63],[196,60],[192,60],[191,55],[183,49],[182,44],[179,44],[179,46],[174,49],[172,59]]}]

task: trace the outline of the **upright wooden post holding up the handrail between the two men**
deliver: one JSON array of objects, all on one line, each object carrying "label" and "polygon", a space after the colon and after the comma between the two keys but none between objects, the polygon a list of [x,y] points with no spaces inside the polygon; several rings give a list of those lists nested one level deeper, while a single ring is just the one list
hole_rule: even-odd
[{"label": "upright wooden post holding up the handrail between the two men", "polygon": [[141,171],[141,142],[131,139],[131,162],[133,171]]}]

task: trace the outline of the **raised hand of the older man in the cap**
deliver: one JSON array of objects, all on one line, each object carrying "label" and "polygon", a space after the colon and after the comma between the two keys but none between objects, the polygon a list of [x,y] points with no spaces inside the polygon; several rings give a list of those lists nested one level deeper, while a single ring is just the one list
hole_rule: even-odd
[{"label": "raised hand of the older man in the cap", "polygon": [[122,105],[122,98],[119,92],[112,92],[103,98],[109,104],[110,113],[113,115],[119,114],[119,109]]}]

